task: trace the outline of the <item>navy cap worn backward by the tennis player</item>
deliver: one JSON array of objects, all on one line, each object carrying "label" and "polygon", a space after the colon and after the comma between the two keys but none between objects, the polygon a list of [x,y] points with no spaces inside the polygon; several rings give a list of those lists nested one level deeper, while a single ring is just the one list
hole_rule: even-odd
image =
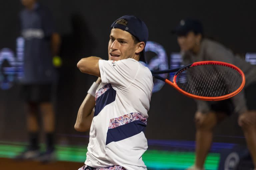
[{"label": "navy cap worn backward by the tennis player", "polygon": [[[118,20],[121,20],[121,19],[127,20],[128,22],[127,26],[116,23]],[[145,42],[145,45],[148,41],[148,28],[146,24],[135,16],[125,15],[118,18],[111,25],[110,29],[112,28],[119,28],[121,30],[127,31],[128,33],[136,37],[140,42]],[[140,61],[143,61],[146,63],[145,56],[146,55],[145,55],[145,47],[144,47],[143,51],[141,51],[141,54],[140,54]]]}]

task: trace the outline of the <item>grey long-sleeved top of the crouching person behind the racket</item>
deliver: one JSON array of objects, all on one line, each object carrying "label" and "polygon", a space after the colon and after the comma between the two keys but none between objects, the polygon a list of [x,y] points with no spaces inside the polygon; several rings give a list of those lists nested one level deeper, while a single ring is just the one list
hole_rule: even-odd
[{"label": "grey long-sleeved top of the crouching person behind the racket", "polygon": [[[199,53],[197,55],[194,55],[191,52],[183,52],[182,58],[185,65],[205,60],[215,60],[231,63],[239,67],[244,72],[246,80],[245,87],[253,82],[256,82],[256,66],[251,65],[239,56],[235,56],[230,49],[215,41],[203,39]],[[235,112],[240,114],[247,110],[244,90],[242,90],[236,96],[232,97],[231,100],[235,106]],[[198,111],[203,113],[211,111],[210,102],[196,100],[196,103]]]}]

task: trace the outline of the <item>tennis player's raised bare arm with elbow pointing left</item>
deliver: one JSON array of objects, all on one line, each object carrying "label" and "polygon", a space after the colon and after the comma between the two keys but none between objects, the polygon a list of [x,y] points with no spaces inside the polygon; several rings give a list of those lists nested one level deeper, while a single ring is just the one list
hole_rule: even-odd
[{"label": "tennis player's raised bare arm with elbow pointing left", "polygon": [[77,63],[77,67],[83,73],[100,77],[100,68],[99,68],[100,59],[101,59],[100,57],[95,57],[95,56],[82,58]]}]

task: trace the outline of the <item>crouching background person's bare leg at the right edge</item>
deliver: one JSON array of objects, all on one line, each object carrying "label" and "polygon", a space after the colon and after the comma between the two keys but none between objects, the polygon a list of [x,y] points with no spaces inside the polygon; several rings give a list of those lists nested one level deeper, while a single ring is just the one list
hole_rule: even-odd
[{"label": "crouching background person's bare leg at the right edge", "polygon": [[256,168],[256,111],[240,115],[238,124],[243,129],[247,147],[251,153],[254,168]]}]

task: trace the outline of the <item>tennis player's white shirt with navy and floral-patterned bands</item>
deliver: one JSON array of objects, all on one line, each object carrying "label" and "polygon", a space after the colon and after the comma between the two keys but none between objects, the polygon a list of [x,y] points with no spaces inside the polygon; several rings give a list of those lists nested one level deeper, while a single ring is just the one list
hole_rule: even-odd
[{"label": "tennis player's white shirt with navy and floral-patterned bands", "polygon": [[148,145],[143,131],[153,89],[152,74],[132,58],[99,60],[99,68],[102,83],[96,91],[85,164],[145,170],[142,154]]}]

